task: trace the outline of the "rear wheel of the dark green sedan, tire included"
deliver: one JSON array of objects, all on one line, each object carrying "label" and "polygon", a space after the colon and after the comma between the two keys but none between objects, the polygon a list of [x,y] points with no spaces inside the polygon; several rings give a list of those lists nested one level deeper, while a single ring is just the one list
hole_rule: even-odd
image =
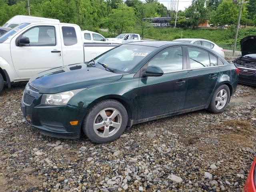
[{"label": "rear wheel of the dark green sedan, tire included", "polygon": [[227,85],[219,86],[214,94],[208,107],[208,111],[212,113],[222,113],[228,106],[230,99],[230,90]]}]

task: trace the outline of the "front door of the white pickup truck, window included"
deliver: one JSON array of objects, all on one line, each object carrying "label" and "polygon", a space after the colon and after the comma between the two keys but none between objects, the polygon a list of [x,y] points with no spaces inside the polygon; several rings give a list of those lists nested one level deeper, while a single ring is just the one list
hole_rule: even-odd
[{"label": "front door of the white pickup truck, window included", "polygon": [[[30,44],[18,45],[18,40],[28,37]],[[31,26],[10,44],[12,62],[20,80],[50,68],[62,66],[60,30],[58,24]]]}]

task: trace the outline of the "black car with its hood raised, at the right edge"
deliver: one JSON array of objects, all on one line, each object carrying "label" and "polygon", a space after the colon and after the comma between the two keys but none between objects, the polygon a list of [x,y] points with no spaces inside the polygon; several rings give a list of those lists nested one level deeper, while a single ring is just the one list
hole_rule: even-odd
[{"label": "black car with its hood raised, at the right edge", "polygon": [[256,86],[256,36],[247,36],[240,41],[242,56],[233,62],[239,68],[238,82]]}]

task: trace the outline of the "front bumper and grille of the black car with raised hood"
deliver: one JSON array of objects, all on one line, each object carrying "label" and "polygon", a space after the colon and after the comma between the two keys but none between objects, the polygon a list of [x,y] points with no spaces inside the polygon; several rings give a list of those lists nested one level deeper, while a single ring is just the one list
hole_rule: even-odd
[{"label": "front bumper and grille of the black car with raised hood", "polygon": [[239,68],[238,82],[241,84],[256,86],[256,70],[249,68]]}]

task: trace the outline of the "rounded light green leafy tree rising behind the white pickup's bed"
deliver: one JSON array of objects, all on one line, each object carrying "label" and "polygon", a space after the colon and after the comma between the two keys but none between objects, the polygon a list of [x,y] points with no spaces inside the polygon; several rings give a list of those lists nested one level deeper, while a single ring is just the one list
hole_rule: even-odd
[{"label": "rounded light green leafy tree rising behind the white pickup's bed", "polygon": [[134,8],[128,7],[126,4],[117,4],[117,9],[112,9],[103,22],[110,32],[114,32],[114,34],[123,33],[134,27]]}]

